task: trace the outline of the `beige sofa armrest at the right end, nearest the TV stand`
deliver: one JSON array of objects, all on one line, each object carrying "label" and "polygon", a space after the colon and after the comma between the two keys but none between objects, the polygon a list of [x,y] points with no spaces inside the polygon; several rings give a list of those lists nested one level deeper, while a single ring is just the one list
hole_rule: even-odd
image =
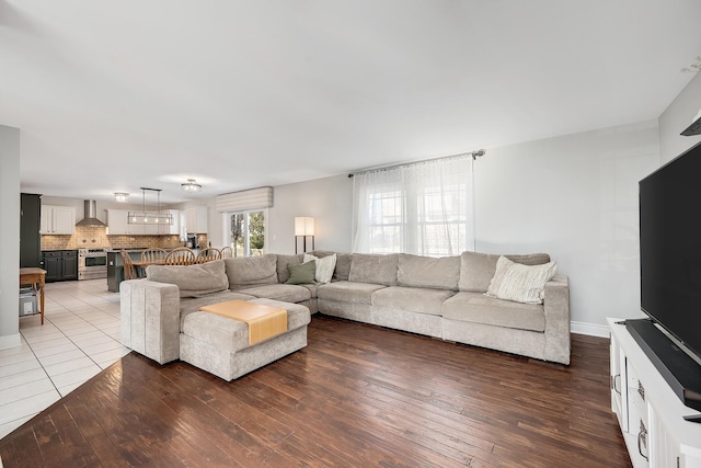
[{"label": "beige sofa armrest at the right end, nearest the TV stand", "polygon": [[570,364],[570,278],[555,275],[545,284],[545,361]]}]

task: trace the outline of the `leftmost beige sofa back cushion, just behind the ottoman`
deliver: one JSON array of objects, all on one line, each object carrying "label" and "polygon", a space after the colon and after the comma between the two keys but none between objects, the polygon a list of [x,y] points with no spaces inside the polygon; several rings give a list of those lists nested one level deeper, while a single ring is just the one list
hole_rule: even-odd
[{"label": "leftmost beige sofa back cushion, just behind the ottoman", "polygon": [[176,285],[180,297],[197,297],[229,287],[225,263],[221,260],[194,265],[149,265],[146,267],[146,277]]}]

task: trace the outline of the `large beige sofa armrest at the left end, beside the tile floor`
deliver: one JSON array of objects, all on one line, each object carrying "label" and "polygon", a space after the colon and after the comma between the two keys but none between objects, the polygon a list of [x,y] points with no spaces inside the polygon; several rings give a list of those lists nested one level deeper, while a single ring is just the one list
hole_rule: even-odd
[{"label": "large beige sofa armrest at the left end, beside the tile floor", "polygon": [[160,364],[180,358],[180,289],[131,279],[119,284],[122,344]]}]

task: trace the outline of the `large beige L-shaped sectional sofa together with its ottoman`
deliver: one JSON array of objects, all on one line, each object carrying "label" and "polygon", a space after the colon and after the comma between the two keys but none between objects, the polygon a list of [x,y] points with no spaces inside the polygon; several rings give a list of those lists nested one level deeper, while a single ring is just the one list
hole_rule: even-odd
[{"label": "large beige L-shaped sectional sofa together with its ottoman", "polygon": [[[484,294],[499,255],[463,252],[435,259],[401,253],[311,253],[320,259],[335,254],[330,283],[287,284],[290,265],[295,269],[301,264],[302,254],[225,259],[193,266],[149,266],[147,279],[122,283],[123,343],[161,364],[183,358],[185,352],[184,361],[231,379],[307,345],[310,313],[321,312],[570,363],[566,276],[554,276],[545,284],[543,304],[520,304]],[[526,265],[550,261],[547,254],[506,256]],[[212,338],[221,318],[209,319],[197,310],[231,299],[286,307],[288,332],[294,331],[295,339],[277,336],[268,340],[274,341],[272,344],[254,345],[258,349],[230,344],[227,340],[240,339],[245,324],[231,330],[228,338]],[[203,329],[203,320],[217,323],[205,323]],[[220,347],[227,349],[228,354],[216,356],[218,364],[209,365],[207,353]],[[262,354],[265,358],[261,358]],[[242,365],[237,359],[246,363]]]}]

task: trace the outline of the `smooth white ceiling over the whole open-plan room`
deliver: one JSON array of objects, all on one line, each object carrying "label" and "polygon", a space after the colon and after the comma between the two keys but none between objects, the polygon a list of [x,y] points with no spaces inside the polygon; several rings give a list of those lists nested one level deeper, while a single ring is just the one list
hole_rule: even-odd
[{"label": "smooth white ceiling over the whole open-plan room", "polygon": [[657,118],[700,22],[699,0],[0,0],[0,124],[23,192],[183,202]]}]

